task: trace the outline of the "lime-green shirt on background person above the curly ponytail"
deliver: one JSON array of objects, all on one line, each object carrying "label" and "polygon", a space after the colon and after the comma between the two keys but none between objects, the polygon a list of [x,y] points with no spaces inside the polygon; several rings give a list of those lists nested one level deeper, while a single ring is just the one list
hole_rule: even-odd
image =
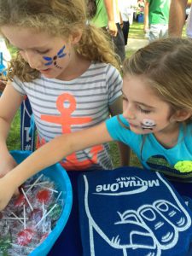
[{"label": "lime-green shirt on background person above the curly ponytail", "polygon": [[97,27],[108,26],[108,14],[103,0],[96,0],[96,15],[90,23]]}]

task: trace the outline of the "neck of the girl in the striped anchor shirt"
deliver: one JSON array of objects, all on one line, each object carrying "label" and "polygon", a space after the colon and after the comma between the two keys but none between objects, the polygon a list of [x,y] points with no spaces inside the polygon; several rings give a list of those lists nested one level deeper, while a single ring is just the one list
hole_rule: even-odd
[{"label": "neck of the girl in the striped anchor shirt", "polygon": [[88,68],[90,67],[90,61],[83,56],[78,55],[76,52],[71,54],[71,61],[68,67],[65,69],[57,79],[70,81],[78,79]]}]

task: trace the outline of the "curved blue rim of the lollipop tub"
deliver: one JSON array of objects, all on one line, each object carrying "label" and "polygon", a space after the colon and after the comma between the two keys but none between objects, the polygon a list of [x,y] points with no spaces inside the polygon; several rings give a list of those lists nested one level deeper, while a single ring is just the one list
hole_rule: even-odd
[{"label": "curved blue rim of the lollipop tub", "polygon": [[[20,151],[20,150],[12,150],[10,151],[10,154],[15,156],[15,154],[20,154],[23,159],[25,159],[27,156],[32,154],[32,151]],[[60,236],[61,231],[65,228],[65,225],[67,224],[67,220],[69,218],[71,209],[72,209],[72,203],[73,203],[73,190],[72,190],[72,184],[70,182],[70,179],[67,175],[66,170],[59,164],[55,164],[57,169],[61,170],[61,175],[64,177],[66,181],[66,190],[67,190],[67,196],[65,200],[65,211],[62,211],[60,218],[57,220],[57,223],[55,225],[55,228],[50,232],[49,236],[38,246],[36,247],[32,253],[30,253],[30,256],[35,256],[35,255],[45,255],[44,253],[46,252],[49,253],[49,250],[51,247],[53,247],[53,240],[55,240]],[[46,169],[46,168],[45,168]],[[43,172],[43,170],[41,171]],[[61,227],[63,227],[61,229]]]}]

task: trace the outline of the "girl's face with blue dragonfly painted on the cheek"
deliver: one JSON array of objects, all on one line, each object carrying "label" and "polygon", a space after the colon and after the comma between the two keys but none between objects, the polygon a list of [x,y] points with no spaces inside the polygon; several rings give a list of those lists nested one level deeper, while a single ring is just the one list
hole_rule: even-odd
[{"label": "girl's face with blue dragonfly painted on the cheek", "polygon": [[2,32],[30,67],[49,79],[60,78],[72,66],[73,46],[64,38],[17,26],[3,26]]}]

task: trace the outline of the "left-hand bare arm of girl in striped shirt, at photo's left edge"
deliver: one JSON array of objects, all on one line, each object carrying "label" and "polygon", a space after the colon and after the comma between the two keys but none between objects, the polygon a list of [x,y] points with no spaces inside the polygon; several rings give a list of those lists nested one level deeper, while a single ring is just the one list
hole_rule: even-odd
[{"label": "left-hand bare arm of girl in striped shirt, at photo's left edge", "polygon": [[20,108],[22,100],[23,97],[8,82],[3,90],[3,95],[0,96],[0,177],[3,177],[16,166],[15,160],[9,154],[6,139],[11,122],[17,109]]}]

